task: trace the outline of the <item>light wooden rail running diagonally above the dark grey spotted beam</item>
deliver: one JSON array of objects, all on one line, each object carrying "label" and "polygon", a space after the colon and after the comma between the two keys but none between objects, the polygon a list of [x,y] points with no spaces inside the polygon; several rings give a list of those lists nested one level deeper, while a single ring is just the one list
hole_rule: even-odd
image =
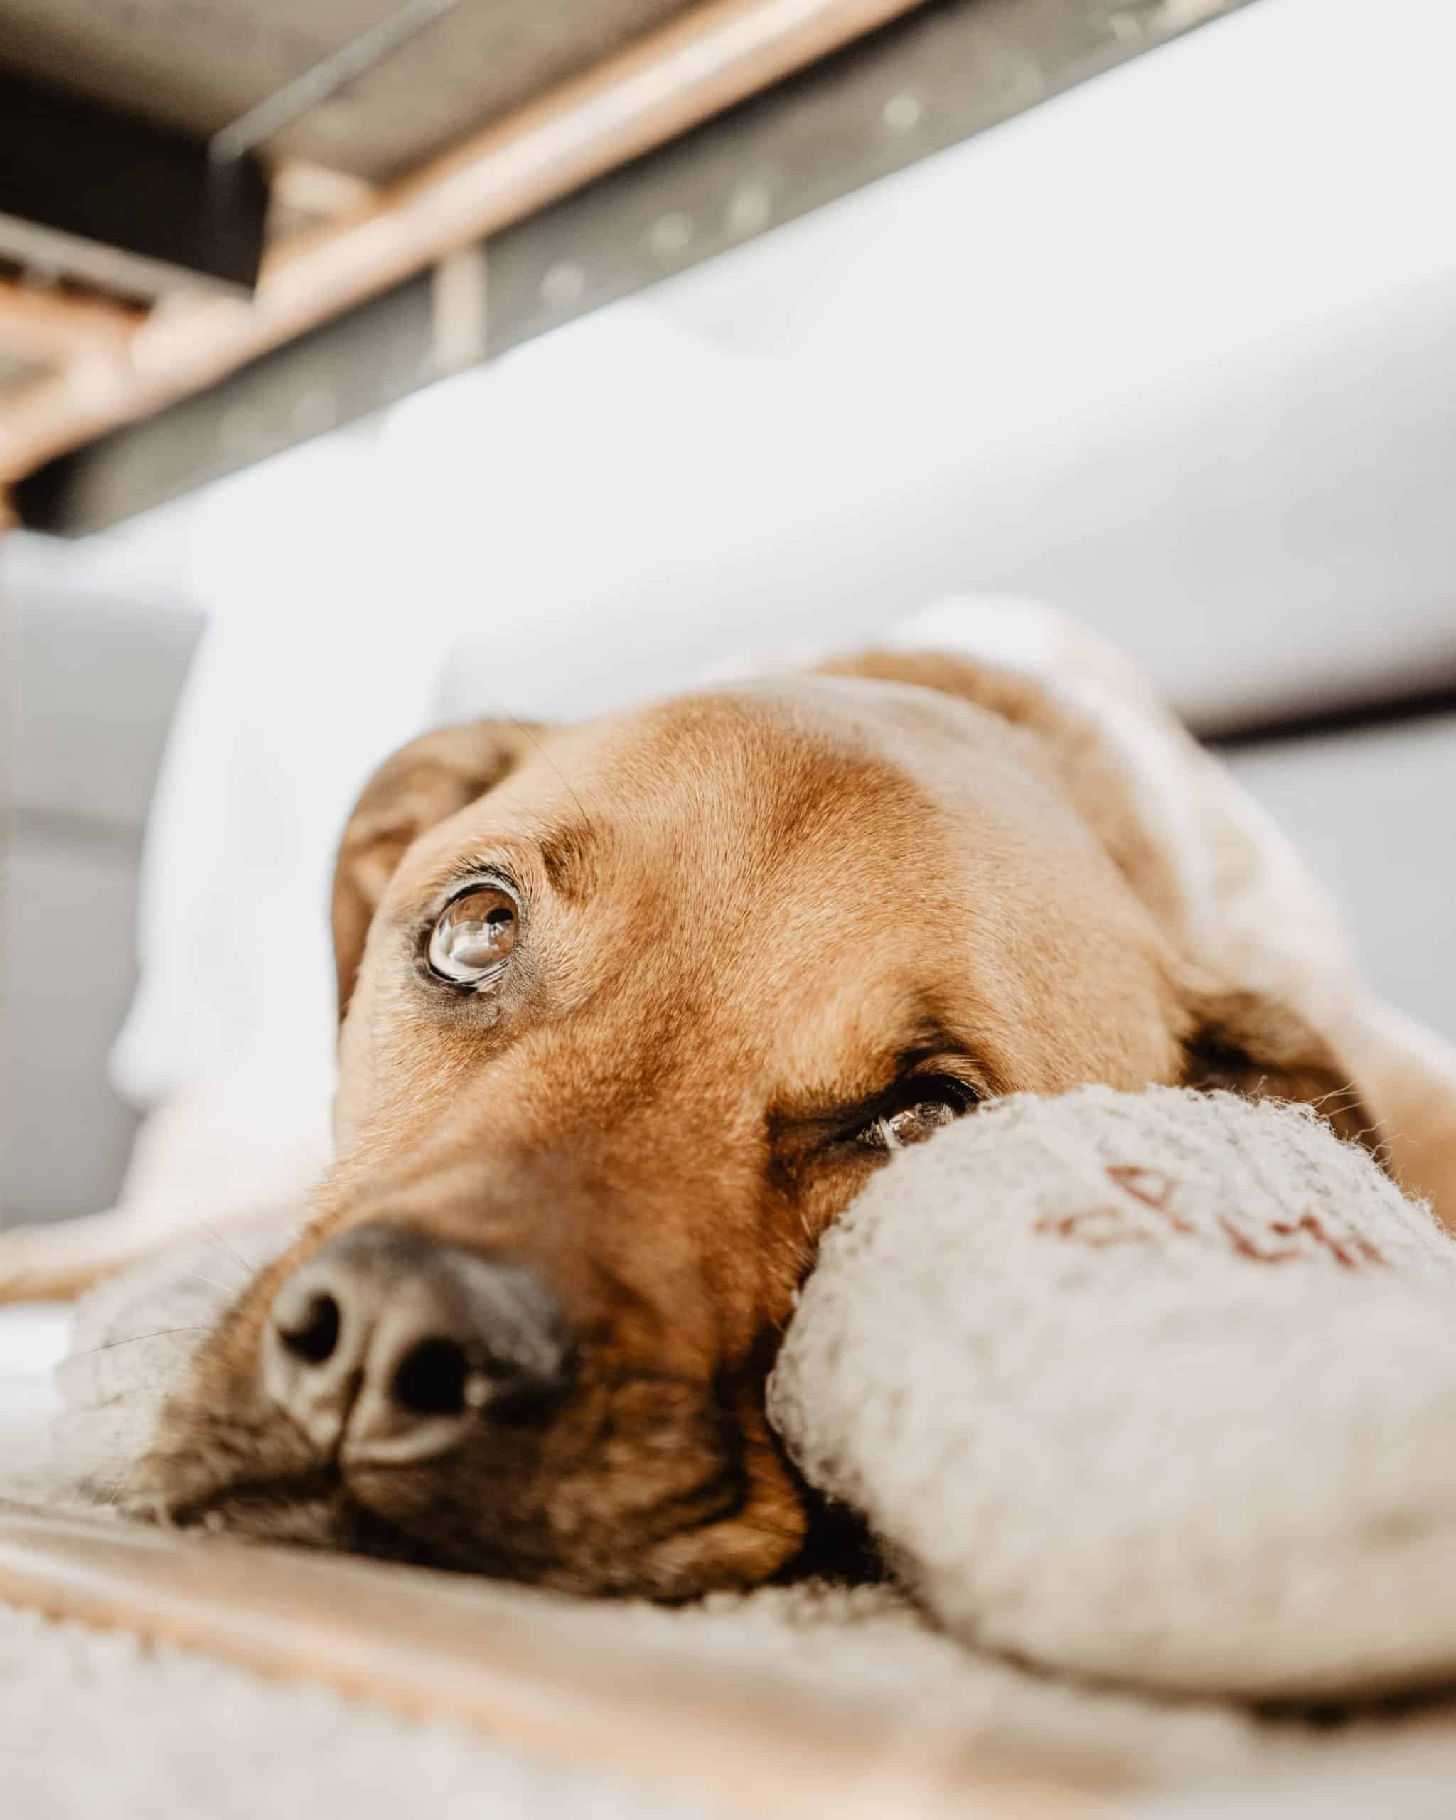
[{"label": "light wooden rail running diagonally above the dark grey spotted beam", "polygon": [[178,304],[147,324],[129,359],[89,359],[20,389],[0,420],[0,484],[217,384],[917,4],[704,0],[357,211],[277,246],[249,304]]}]

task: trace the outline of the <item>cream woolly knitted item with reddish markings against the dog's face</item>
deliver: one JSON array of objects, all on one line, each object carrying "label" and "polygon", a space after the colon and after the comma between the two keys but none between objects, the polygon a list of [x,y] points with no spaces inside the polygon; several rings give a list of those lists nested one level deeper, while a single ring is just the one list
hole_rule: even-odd
[{"label": "cream woolly knitted item with reddish markings against the dog's face", "polygon": [[1309,1110],[1088,1087],[908,1150],[770,1409],[965,1642],[1152,1689],[1456,1678],[1456,1241]]}]

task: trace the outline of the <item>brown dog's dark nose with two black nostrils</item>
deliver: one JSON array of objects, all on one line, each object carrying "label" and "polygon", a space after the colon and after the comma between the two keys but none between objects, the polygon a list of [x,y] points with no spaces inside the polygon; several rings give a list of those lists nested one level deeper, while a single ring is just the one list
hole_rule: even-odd
[{"label": "brown dog's dark nose with two black nostrils", "polygon": [[404,1227],[331,1239],[278,1290],[262,1385],[320,1452],[404,1463],[477,1420],[530,1421],[566,1389],[561,1305],[519,1265]]}]

